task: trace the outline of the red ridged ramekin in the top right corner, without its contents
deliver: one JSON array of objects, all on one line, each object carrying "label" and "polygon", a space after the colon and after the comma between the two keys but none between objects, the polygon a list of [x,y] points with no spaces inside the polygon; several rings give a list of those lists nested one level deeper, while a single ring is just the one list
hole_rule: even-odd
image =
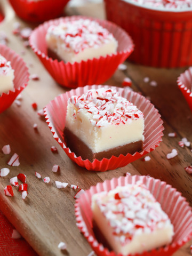
[{"label": "red ridged ramekin in the top right corner, without its contents", "polygon": [[192,11],[167,11],[123,0],[105,0],[107,19],[130,34],[135,51],[130,60],[153,67],[192,65]]}]

